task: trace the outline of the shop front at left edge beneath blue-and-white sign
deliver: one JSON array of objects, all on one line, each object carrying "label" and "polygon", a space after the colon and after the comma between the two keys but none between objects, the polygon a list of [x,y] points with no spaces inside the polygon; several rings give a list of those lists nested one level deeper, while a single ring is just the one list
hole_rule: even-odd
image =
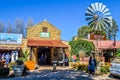
[{"label": "shop front at left edge beneath blue-and-white sign", "polygon": [[0,33],[0,58],[9,53],[10,62],[15,62],[20,57],[22,34]]}]

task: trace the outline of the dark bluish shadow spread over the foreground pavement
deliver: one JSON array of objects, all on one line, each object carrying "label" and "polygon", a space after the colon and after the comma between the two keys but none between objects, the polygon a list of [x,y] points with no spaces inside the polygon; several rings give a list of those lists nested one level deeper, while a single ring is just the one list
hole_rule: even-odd
[{"label": "dark bluish shadow spread over the foreground pavement", "polygon": [[4,78],[3,80],[93,80],[87,73],[74,70],[35,70],[28,71],[22,77]]}]

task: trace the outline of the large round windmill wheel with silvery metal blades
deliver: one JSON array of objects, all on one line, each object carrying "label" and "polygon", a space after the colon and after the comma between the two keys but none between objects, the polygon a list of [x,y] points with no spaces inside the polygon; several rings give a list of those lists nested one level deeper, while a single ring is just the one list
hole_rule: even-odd
[{"label": "large round windmill wheel with silvery metal blades", "polygon": [[94,30],[106,30],[112,25],[112,16],[103,3],[93,3],[86,10],[86,21]]}]

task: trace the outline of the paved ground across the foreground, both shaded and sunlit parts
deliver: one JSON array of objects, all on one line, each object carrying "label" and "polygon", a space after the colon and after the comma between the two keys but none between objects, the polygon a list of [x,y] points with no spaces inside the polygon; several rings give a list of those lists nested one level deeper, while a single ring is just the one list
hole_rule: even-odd
[{"label": "paved ground across the foreground, both shaded and sunlit parts", "polygon": [[57,71],[53,72],[52,67],[40,67],[34,71],[27,71],[26,76],[4,78],[0,80],[119,80],[109,78],[108,75],[91,77],[82,71],[75,71],[69,67],[57,67]]}]

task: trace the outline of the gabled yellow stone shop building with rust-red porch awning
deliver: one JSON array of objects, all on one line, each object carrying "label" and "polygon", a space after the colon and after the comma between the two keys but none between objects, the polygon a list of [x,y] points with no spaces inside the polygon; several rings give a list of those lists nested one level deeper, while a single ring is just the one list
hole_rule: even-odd
[{"label": "gabled yellow stone shop building with rust-red porch awning", "polygon": [[62,61],[68,46],[61,41],[60,35],[61,31],[46,20],[29,27],[27,47],[30,48],[30,59],[39,65],[51,65],[54,60]]}]

